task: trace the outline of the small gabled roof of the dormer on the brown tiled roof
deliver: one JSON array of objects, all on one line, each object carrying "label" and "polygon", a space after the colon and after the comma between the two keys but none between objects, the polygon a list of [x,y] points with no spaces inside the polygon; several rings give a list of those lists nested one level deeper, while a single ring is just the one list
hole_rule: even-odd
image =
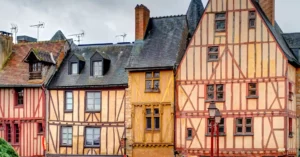
[{"label": "small gabled roof of the dormer on the brown tiled roof", "polygon": [[39,49],[30,49],[29,53],[24,58],[24,62],[30,62],[29,56],[34,55],[38,61],[55,64],[53,54],[51,52],[41,51]]}]

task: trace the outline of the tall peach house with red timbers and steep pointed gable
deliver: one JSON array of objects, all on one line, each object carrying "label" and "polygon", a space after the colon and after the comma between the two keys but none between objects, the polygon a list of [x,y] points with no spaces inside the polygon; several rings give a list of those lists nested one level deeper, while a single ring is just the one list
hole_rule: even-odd
[{"label": "tall peach house with red timbers and steep pointed gable", "polygon": [[215,103],[220,156],[296,156],[299,45],[286,44],[295,36],[282,35],[274,11],[275,0],[209,0],[176,73],[180,154],[210,156]]}]

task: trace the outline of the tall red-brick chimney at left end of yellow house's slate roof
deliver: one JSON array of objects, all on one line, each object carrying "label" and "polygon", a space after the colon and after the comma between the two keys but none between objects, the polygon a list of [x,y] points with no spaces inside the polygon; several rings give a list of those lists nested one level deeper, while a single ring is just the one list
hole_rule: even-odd
[{"label": "tall red-brick chimney at left end of yellow house's slate roof", "polygon": [[148,22],[150,19],[150,10],[143,4],[135,7],[135,40],[144,40]]}]

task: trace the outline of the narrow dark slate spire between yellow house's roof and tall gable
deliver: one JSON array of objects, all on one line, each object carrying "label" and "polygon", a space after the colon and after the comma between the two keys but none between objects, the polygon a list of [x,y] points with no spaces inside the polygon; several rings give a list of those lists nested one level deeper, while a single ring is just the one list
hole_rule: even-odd
[{"label": "narrow dark slate spire between yellow house's roof and tall gable", "polygon": [[202,0],[191,0],[189,9],[186,13],[190,35],[195,33],[203,13],[204,7]]}]

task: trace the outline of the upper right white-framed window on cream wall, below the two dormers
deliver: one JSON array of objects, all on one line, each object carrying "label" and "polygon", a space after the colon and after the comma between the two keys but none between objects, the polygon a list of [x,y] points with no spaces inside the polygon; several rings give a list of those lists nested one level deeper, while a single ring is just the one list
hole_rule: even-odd
[{"label": "upper right white-framed window on cream wall, below the two dormers", "polygon": [[101,109],[101,93],[87,92],[86,111],[100,111]]}]

